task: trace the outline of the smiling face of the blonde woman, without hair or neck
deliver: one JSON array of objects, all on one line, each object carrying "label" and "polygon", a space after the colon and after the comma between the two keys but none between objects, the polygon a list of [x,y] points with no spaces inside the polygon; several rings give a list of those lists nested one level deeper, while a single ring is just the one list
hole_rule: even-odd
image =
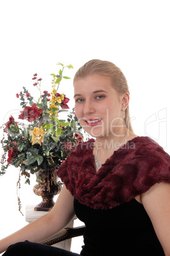
[{"label": "smiling face of the blonde woman, without hair or neck", "polygon": [[123,125],[122,97],[108,76],[95,74],[76,80],[74,100],[76,116],[91,136],[115,136],[117,128]]}]

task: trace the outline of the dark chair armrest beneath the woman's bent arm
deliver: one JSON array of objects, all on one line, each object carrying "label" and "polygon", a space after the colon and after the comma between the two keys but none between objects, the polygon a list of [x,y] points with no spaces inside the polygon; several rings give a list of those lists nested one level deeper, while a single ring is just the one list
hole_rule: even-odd
[{"label": "dark chair armrest beneath the woman's bent arm", "polygon": [[69,238],[75,238],[76,236],[82,236],[85,231],[85,226],[80,227],[66,227],[62,231],[58,232],[51,238],[43,241],[44,245],[54,245]]}]

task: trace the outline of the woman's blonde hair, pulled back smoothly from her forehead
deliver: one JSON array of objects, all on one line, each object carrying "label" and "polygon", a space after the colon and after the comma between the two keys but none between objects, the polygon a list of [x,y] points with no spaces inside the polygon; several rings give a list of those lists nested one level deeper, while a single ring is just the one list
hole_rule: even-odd
[{"label": "woman's blonde hair, pulled back smoothly from her forehead", "polygon": [[[94,74],[110,77],[113,88],[118,92],[120,96],[126,92],[130,94],[127,80],[121,69],[107,60],[94,59],[85,63],[80,69],[78,69],[78,71],[76,71],[73,82]],[[129,129],[129,131],[133,132],[129,114],[129,106],[127,106],[125,110],[124,121],[125,126]]]}]

